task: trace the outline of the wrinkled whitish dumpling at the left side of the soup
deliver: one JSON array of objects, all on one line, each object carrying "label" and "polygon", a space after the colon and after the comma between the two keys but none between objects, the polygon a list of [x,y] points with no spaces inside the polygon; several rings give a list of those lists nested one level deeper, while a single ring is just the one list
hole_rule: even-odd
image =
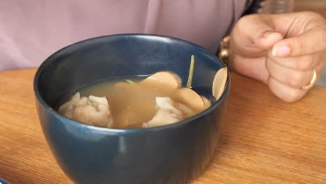
[{"label": "wrinkled whitish dumpling at the left side of the soup", "polygon": [[109,103],[105,97],[90,95],[87,98],[80,97],[80,94],[76,93],[70,101],[59,107],[58,112],[68,118],[91,125],[110,127],[112,123]]}]

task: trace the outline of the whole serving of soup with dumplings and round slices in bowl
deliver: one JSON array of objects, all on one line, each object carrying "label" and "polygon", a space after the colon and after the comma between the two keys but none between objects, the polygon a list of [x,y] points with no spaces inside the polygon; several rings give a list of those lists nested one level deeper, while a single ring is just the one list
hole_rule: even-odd
[{"label": "whole serving of soup with dumplings and round slices in bowl", "polygon": [[146,79],[115,79],[90,84],[59,107],[76,121],[108,128],[151,128],[182,121],[202,112],[210,100],[181,88],[172,72]]}]

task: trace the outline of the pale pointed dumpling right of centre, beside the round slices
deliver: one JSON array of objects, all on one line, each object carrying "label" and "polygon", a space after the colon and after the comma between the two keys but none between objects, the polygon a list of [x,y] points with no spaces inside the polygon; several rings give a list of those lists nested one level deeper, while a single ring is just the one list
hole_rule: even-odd
[{"label": "pale pointed dumpling right of centre, beside the round slices", "polygon": [[143,128],[169,125],[182,121],[187,118],[187,116],[193,114],[189,107],[178,102],[173,102],[169,97],[157,97],[156,109],[157,112],[154,117],[147,123],[143,123]]}]

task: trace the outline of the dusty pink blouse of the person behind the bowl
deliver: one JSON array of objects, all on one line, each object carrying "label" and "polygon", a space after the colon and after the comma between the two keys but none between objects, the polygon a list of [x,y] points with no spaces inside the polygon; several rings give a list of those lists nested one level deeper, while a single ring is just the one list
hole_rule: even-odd
[{"label": "dusty pink blouse of the person behind the bowl", "polygon": [[155,33],[211,52],[238,20],[245,0],[3,0],[0,70],[38,67],[58,49],[116,33]]}]

